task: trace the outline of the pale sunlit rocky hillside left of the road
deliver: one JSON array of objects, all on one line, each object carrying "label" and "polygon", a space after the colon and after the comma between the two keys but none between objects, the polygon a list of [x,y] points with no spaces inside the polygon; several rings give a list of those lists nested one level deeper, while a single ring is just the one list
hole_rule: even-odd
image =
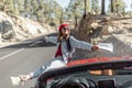
[{"label": "pale sunlit rocky hillside left of the road", "polygon": [[54,31],[46,23],[0,12],[0,46],[34,38]]}]

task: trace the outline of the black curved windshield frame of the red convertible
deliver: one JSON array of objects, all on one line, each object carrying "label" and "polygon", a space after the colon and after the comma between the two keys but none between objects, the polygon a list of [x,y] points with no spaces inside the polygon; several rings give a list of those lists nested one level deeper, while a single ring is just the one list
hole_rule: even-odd
[{"label": "black curved windshield frame of the red convertible", "polygon": [[105,69],[122,69],[124,67],[132,67],[132,59],[120,59],[120,61],[110,61],[110,62],[99,62],[92,64],[81,64],[69,67],[61,67],[56,69],[51,69],[42,74],[38,78],[38,81],[46,81],[50,78],[63,76],[66,74],[86,72],[86,70],[105,70]]}]

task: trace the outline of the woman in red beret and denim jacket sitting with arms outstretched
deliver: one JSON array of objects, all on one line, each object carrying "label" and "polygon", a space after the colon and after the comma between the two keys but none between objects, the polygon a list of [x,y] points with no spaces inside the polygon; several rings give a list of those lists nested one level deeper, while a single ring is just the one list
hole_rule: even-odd
[{"label": "woman in red beret and denim jacket sitting with arms outstretched", "polygon": [[13,85],[19,85],[20,81],[25,81],[35,78],[51,68],[58,68],[62,66],[66,66],[68,62],[72,62],[72,57],[73,57],[73,53],[75,52],[75,48],[82,48],[92,52],[98,50],[98,46],[91,45],[87,42],[78,41],[74,36],[72,36],[67,24],[59,25],[57,37],[45,36],[45,40],[46,42],[52,42],[57,44],[57,51],[55,53],[54,58],[48,63],[44,64],[35,72],[32,72],[28,75],[11,77],[11,81]]}]

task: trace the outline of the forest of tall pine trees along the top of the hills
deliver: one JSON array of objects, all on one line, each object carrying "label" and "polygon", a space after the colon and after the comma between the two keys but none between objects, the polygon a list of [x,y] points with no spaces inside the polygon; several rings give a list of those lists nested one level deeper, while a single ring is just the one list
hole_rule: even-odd
[{"label": "forest of tall pine trees along the top of the hills", "polygon": [[[106,2],[109,2],[108,8],[106,8]],[[131,16],[132,11],[125,11],[127,7],[123,0],[101,0],[101,4],[99,0],[70,0],[66,8],[62,8],[57,0],[1,0],[0,11],[56,26],[67,20],[77,23],[88,12],[95,15]]]}]

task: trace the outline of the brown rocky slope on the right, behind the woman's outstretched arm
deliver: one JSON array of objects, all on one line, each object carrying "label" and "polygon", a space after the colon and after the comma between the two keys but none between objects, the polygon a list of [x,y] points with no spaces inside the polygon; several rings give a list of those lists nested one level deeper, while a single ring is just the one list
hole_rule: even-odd
[{"label": "brown rocky slope on the right, behind the woman's outstretched arm", "polygon": [[82,19],[75,36],[92,44],[112,43],[113,52],[89,52],[77,50],[75,58],[89,58],[102,56],[132,56],[132,18],[117,15],[91,15]]}]

